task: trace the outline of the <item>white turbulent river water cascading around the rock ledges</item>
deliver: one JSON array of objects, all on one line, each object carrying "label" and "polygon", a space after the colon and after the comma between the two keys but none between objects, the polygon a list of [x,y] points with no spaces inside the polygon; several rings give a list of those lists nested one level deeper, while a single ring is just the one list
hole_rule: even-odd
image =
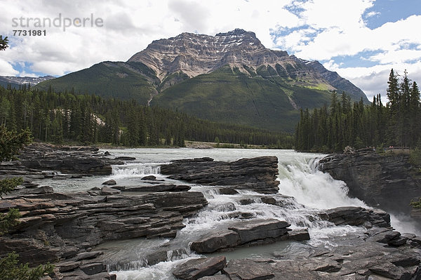
[{"label": "white turbulent river water cascading around the rock ledges", "polygon": [[[203,192],[208,206],[193,218],[185,219],[185,228],[178,232],[175,239],[132,239],[129,241],[113,241],[102,244],[109,259],[109,271],[114,271],[118,279],[174,279],[171,269],[186,258],[198,257],[189,251],[189,243],[210,229],[218,229],[222,225],[234,222],[234,211],[250,213],[256,218],[276,218],[290,222],[291,228],[307,227],[311,239],[305,242],[279,241],[276,244],[239,248],[231,252],[213,255],[225,255],[234,258],[270,258],[274,254],[300,254],[314,246],[340,246],[346,242],[348,234],[362,234],[361,227],[338,227],[322,221],[315,215],[318,209],[338,206],[364,206],[359,199],[347,196],[344,182],[333,180],[330,175],[318,171],[316,164],[323,154],[298,153],[292,150],[272,149],[112,149],[112,156],[133,156],[124,166],[113,166],[112,175],[95,176],[79,180],[55,181],[56,192],[76,192],[99,187],[102,182],[114,179],[119,185],[136,185],[145,175],[155,175],[157,179],[164,176],[159,173],[159,166],[174,159],[209,156],[218,161],[234,161],[245,157],[277,156],[279,160],[279,194],[283,199],[283,208],[262,204],[262,194],[241,191],[235,195],[221,195],[214,187],[189,184],[192,191]],[[105,151],[102,151],[105,152]],[[168,180],[168,179],[166,179]],[[185,182],[183,182],[185,185]],[[133,194],[135,195],[135,194]],[[273,194],[267,195],[273,196]],[[293,196],[293,197],[287,197]],[[253,203],[242,205],[241,199],[253,199]],[[415,232],[399,219],[392,217],[392,225],[401,232]],[[341,238],[343,236],[343,238]],[[168,261],[148,266],[145,255],[159,250],[168,251]],[[210,254],[211,255],[211,254]]]}]

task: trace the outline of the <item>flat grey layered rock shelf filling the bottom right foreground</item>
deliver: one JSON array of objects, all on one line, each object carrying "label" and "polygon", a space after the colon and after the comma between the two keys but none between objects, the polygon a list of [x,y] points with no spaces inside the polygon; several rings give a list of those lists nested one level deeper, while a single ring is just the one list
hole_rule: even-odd
[{"label": "flat grey layered rock shelf filling the bottom right foreground", "polygon": [[[401,238],[410,240],[409,246],[406,242],[396,242],[400,240],[396,236],[400,234],[377,227],[361,235],[349,235],[348,244],[330,249],[309,247],[299,254],[275,252],[272,258],[234,259],[222,268],[221,261],[216,262],[225,259],[221,255],[189,260],[175,272],[180,279],[201,280],[420,279],[420,239]],[[192,274],[180,274],[181,269],[207,276],[195,278]]]}]

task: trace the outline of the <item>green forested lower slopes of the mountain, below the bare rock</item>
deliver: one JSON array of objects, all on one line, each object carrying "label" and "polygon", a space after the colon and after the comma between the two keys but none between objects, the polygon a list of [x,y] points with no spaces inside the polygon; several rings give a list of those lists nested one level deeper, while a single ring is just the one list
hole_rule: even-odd
[{"label": "green forested lower slopes of the mountain, below the bare rock", "polygon": [[294,60],[274,67],[242,68],[225,65],[192,79],[178,71],[160,81],[141,62],[101,62],[35,88],[135,100],[139,105],[152,100],[152,106],[199,119],[288,133],[293,133],[300,118],[298,108],[321,107],[330,100],[331,86]]}]

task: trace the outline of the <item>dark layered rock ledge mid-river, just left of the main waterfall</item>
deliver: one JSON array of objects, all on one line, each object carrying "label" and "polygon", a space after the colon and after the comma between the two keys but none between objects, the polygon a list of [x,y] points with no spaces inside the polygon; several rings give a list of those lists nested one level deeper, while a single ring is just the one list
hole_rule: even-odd
[{"label": "dark layered rock ledge mid-river, just left of the main waterfall", "polygon": [[278,192],[278,159],[260,156],[225,162],[210,158],[182,159],[161,166],[163,175],[175,180],[196,182],[202,185],[222,185],[234,189],[251,189],[262,194]]}]

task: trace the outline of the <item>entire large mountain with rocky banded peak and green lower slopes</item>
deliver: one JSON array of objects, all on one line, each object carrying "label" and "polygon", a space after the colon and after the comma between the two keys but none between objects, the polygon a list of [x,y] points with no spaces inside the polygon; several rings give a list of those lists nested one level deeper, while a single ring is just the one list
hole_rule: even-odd
[{"label": "entire large mountain with rocky banded peak and green lower slopes", "polygon": [[300,108],[328,104],[333,91],[368,102],[359,88],[319,62],[265,48],[243,29],[152,41],[127,62],[101,62],[38,85],[49,86],[283,131],[293,131]]}]

